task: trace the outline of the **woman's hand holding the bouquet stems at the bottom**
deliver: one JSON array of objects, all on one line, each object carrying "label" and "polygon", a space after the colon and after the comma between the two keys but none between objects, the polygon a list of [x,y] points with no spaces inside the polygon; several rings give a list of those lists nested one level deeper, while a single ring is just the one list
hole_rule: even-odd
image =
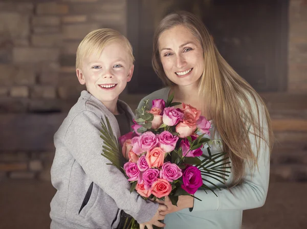
[{"label": "woman's hand holding the bouquet stems at the bottom", "polygon": [[166,215],[169,213],[178,212],[186,208],[193,208],[194,198],[192,196],[179,196],[176,206],[173,205],[170,201],[170,198],[166,196],[164,201],[158,201],[158,203],[165,204],[167,206],[167,211],[161,212],[161,215]]}]

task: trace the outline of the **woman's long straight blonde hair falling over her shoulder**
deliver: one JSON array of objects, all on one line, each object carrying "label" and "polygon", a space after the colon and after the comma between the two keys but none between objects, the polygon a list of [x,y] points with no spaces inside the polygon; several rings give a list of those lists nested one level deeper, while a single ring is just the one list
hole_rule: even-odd
[{"label": "woman's long straight blonde hair falling over her shoulder", "polygon": [[[175,26],[188,28],[202,45],[205,67],[198,88],[199,97],[204,101],[202,113],[214,121],[215,130],[221,136],[224,151],[231,159],[232,185],[235,186],[242,182],[246,165],[249,165],[251,171],[258,165],[261,139],[268,144],[271,152],[273,132],[269,112],[256,91],[218,52],[203,22],[188,12],[180,11],[164,17],[153,37],[152,66],[166,85],[173,87],[175,84],[164,73],[158,42],[164,31]],[[260,117],[259,109],[265,113],[265,117]],[[267,123],[263,123],[262,120],[266,120]],[[249,134],[255,137],[256,155],[250,139],[247,138]],[[214,133],[212,135],[214,136]]]}]

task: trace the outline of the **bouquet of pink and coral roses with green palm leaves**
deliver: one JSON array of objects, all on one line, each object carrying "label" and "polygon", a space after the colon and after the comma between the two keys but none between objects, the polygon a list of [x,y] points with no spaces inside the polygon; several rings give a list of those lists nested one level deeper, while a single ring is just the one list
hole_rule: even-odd
[{"label": "bouquet of pink and coral roses with green palm leaves", "polygon": [[[210,122],[201,116],[201,111],[182,104],[182,109],[174,106],[173,95],[167,101],[156,99],[149,107],[145,105],[136,110],[134,132],[129,132],[117,142],[108,120],[102,121],[101,138],[104,146],[102,155],[117,166],[131,183],[130,192],[136,190],[143,198],[164,200],[169,196],[172,204],[177,205],[180,195],[190,195],[198,189],[211,190],[207,184],[218,189],[213,178],[222,184],[227,180],[230,168],[226,153],[211,154],[210,145],[215,141],[204,138],[210,134]],[[111,141],[112,139],[112,141]],[[119,150],[122,146],[122,155]],[[208,151],[203,154],[202,149]],[[203,156],[203,159],[200,159]],[[129,161],[123,164],[124,157]],[[123,165],[123,166],[122,166]],[[197,198],[198,199],[198,198]]]}]

